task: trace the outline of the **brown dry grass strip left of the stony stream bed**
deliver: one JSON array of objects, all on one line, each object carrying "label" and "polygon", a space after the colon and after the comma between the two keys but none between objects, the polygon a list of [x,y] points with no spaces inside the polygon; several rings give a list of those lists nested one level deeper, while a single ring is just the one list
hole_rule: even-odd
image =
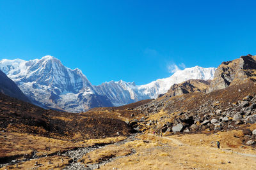
[{"label": "brown dry grass strip left of the stony stream bed", "polygon": [[49,155],[77,147],[116,143],[125,138],[124,136],[119,136],[117,138],[89,139],[72,142],[17,132],[2,132],[0,134],[0,158],[14,156],[17,159],[23,159],[24,157],[29,157],[29,155],[31,156],[34,151],[37,156]]}]

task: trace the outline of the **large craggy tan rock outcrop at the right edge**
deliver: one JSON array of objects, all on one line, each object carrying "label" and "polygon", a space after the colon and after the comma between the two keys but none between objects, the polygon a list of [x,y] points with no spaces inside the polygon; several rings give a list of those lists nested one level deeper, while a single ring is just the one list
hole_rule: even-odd
[{"label": "large craggy tan rock outcrop at the right edge", "polygon": [[246,81],[255,81],[256,56],[246,55],[239,59],[222,62],[216,69],[207,93],[218,89],[225,89],[230,85],[237,85]]}]

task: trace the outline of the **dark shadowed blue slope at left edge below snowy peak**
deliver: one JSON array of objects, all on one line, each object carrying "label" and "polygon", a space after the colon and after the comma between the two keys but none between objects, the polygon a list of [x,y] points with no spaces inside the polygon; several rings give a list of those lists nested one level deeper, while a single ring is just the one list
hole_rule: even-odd
[{"label": "dark shadowed blue slope at left edge below snowy peak", "polygon": [[30,102],[28,97],[26,97],[22,91],[17,87],[16,83],[12,81],[3,71],[0,70],[0,92],[10,96],[20,99],[22,101]]}]

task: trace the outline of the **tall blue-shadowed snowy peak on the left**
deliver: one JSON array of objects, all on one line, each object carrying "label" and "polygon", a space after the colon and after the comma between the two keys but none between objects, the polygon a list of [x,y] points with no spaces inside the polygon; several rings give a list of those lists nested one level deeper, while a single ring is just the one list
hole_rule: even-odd
[{"label": "tall blue-shadowed snowy peak on the left", "polygon": [[29,61],[3,59],[0,69],[36,105],[74,112],[113,106],[107,97],[95,94],[79,69],[69,69],[49,55]]}]

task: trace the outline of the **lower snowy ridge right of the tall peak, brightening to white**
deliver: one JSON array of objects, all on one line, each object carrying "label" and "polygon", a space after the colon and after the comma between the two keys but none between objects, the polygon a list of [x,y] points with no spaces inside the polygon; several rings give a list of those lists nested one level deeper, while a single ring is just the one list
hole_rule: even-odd
[{"label": "lower snowy ridge right of the tall peak, brightening to white", "polygon": [[199,66],[179,70],[168,78],[158,79],[146,85],[135,85],[125,81],[109,81],[95,87],[96,91],[107,96],[115,106],[129,104],[143,99],[157,98],[166,93],[175,83],[182,83],[190,79],[212,80],[216,68]]}]

